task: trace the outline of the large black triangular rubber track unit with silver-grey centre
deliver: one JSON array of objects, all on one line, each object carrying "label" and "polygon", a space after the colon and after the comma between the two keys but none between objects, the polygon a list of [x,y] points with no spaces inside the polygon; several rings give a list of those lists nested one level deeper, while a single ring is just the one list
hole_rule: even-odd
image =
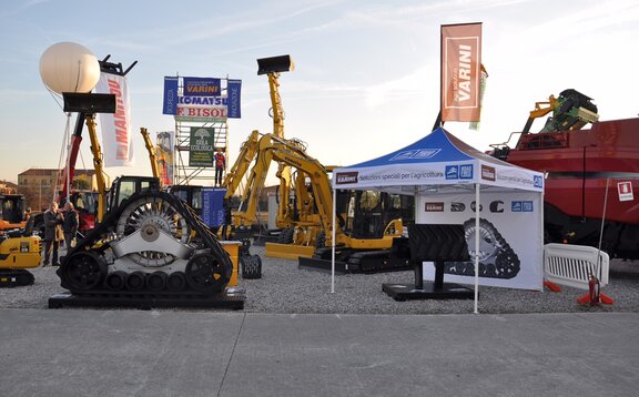
[{"label": "large black triangular rubber track unit with silver-grey centre", "polygon": [[[231,257],[193,210],[172,194],[146,191],[106,214],[57,274],[75,297],[162,306],[219,299],[232,272]],[[50,299],[50,307],[62,305]]]}]

